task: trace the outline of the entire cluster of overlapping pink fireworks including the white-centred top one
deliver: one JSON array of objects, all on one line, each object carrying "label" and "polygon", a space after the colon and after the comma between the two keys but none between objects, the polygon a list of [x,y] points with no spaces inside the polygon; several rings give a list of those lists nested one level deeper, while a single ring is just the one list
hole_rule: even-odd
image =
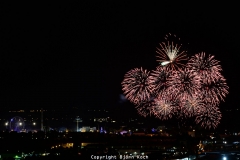
[{"label": "entire cluster of overlapping pink fireworks including the white-centred top one", "polygon": [[135,68],[125,74],[125,97],[136,105],[141,116],[167,120],[174,115],[180,121],[195,118],[202,127],[216,128],[222,117],[218,106],[229,90],[219,61],[202,52],[184,65],[186,52],[170,40],[172,37],[176,38],[167,35],[167,42],[157,48],[160,66],[156,70],[150,73]]}]

